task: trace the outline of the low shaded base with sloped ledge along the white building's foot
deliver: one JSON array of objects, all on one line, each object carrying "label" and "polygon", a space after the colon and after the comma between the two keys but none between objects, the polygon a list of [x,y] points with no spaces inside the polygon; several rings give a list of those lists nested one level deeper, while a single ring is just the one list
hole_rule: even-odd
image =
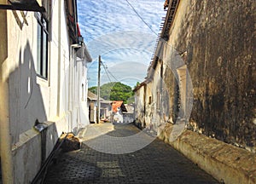
[{"label": "low shaded base with sloped ledge along the white building's foot", "polygon": [[[32,128],[20,135],[20,139],[12,147],[14,163],[14,183],[31,183],[44,160],[49,156],[61,132],[65,119],[58,122],[46,122],[44,133]],[[43,147],[43,149],[42,149]]]}]

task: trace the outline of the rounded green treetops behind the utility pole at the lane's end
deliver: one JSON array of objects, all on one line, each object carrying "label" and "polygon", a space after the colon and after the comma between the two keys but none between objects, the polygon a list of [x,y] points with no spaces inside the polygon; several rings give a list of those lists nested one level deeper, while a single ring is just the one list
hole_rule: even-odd
[{"label": "rounded green treetops behind the utility pole at the lane's end", "polygon": [[[90,87],[89,90],[96,94],[97,87]],[[101,86],[101,97],[107,101],[124,101],[124,103],[134,102],[131,87],[119,82],[104,83]]]}]

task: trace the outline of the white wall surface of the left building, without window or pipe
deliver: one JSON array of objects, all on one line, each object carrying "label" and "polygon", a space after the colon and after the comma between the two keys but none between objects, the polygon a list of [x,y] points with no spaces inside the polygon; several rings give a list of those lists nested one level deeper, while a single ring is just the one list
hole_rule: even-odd
[{"label": "white wall surface of the left building, without window or pipe", "polygon": [[82,97],[82,83],[87,88],[86,60],[77,61],[76,57],[71,60],[69,57],[64,1],[53,1],[49,12],[52,13],[49,17],[52,23],[49,26],[47,80],[37,77],[35,72],[38,21],[34,13],[25,12],[23,18],[20,11],[8,11],[7,22],[0,22],[8,26],[7,34],[3,35],[8,38],[8,49],[2,75],[9,84],[6,90],[9,91],[14,167],[3,168],[3,173],[13,171],[14,183],[30,183],[42,164],[41,135],[33,128],[37,119],[49,126],[46,130],[46,156],[62,131],[77,130],[89,124],[87,93]]}]

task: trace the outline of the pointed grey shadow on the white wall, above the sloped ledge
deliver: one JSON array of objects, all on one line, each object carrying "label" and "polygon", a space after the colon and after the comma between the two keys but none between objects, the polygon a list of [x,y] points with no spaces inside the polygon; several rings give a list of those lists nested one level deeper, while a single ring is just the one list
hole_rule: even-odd
[{"label": "pointed grey shadow on the white wall, above the sloped ledge", "polygon": [[47,120],[29,43],[23,53],[20,49],[19,65],[9,75],[9,109],[13,144],[20,134],[32,129],[37,119],[41,123]]}]

